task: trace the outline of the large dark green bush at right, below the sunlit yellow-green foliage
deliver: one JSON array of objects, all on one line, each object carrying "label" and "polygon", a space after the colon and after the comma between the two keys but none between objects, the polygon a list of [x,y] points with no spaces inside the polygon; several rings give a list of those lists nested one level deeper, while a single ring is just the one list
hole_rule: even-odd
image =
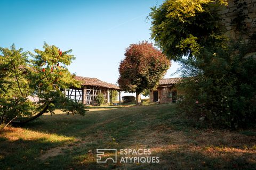
[{"label": "large dark green bush at right, below the sunlit yellow-green foliage", "polygon": [[241,43],[228,49],[205,47],[203,60],[181,64],[183,76],[193,77],[180,87],[186,94],[181,106],[190,118],[230,128],[255,123],[256,60],[246,55],[250,48]]}]

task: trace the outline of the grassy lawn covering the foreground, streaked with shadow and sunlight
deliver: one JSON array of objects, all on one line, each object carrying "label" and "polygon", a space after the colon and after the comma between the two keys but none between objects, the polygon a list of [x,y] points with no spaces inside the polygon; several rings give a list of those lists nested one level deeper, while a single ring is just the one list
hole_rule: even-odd
[{"label": "grassy lawn covering the foreground, streaked with shadow and sunlight", "polygon": [[[175,104],[91,107],[0,132],[0,169],[255,169],[255,130],[196,129]],[[96,163],[97,148],[151,149],[159,163]],[[118,156],[118,159],[120,156]]]}]

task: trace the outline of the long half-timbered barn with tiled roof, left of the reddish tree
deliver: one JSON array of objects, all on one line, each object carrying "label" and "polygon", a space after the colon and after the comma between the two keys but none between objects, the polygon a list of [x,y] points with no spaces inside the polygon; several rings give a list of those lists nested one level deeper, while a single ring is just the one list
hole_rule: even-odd
[{"label": "long half-timbered barn with tiled roof, left of the reddish tree", "polygon": [[66,97],[88,106],[94,105],[97,95],[102,93],[105,97],[105,103],[107,104],[112,103],[112,90],[117,90],[119,91],[119,103],[121,103],[121,89],[118,86],[101,81],[97,78],[76,76],[75,79],[81,82],[81,88],[70,87],[69,89],[65,89],[64,94]]}]

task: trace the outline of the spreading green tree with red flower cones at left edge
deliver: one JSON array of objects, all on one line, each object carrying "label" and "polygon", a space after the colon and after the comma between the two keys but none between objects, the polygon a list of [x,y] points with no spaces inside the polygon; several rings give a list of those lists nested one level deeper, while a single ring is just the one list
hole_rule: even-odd
[{"label": "spreading green tree with red flower cones at left edge", "polygon": [[[67,65],[75,59],[71,50],[62,52],[44,43],[36,54],[0,47],[0,123],[24,124],[55,108],[84,115],[84,105],[64,97],[62,89],[79,87]],[[32,59],[29,60],[29,56]],[[29,98],[38,98],[37,102]]]}]

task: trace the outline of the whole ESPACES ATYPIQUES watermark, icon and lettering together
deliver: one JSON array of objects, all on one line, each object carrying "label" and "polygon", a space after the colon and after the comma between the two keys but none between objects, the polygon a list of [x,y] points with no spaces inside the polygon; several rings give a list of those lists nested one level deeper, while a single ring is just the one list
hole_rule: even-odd
[{"label": "whole ESPACES ATYPIQUES watermark, icon and lettering together", "polygon": [[159,157],[152,156],[150,149],[97,149],[96,156],[97,163],[159,163]]}]

